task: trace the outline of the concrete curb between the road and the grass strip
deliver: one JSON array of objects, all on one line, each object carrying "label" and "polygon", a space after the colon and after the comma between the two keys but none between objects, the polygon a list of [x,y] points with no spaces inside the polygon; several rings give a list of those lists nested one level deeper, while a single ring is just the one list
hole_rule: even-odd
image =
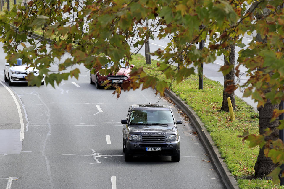
[{"label": "concrete curb between the road and the grass strip", "polygon": [[223,162],[224,160],[221,158],[221,154],[200,118],[196,115],[192,108],[186,105],[174,92],[166,90],[165,95],[175,102],[175,104],[178,105],[178,107],[180,107],[189,117],[191,124],[195,127],[202,144],[205,146],[205,149],[212,159],[213,165],[220,176],[224,187],[226,189],[238,189],[237,181],[233,176],[231,176],[227,165]]}]

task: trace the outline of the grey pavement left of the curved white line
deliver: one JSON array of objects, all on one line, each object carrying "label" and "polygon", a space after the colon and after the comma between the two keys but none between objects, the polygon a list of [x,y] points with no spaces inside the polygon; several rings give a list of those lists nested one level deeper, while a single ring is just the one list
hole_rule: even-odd
[{"label": "grey pavement left of the curved white line", "polygon": [[21,124],[17,105],[9,91],[2,85],[6,85],[3,79],[0,79],[0,82],[0,154],[20,154]]}]

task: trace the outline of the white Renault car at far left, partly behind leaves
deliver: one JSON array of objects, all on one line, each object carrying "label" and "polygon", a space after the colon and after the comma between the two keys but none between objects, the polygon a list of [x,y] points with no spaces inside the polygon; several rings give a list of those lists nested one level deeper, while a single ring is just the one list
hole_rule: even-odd
[{"label": "white Renault car at far left, partly behind leaves", "polygon": [[[29,67],[26,69],[27,64],[22,64],[22,59],[17,59],[17,64],[14,64],[10,67],[9,63],[5,63],[4,67],[4,80],[8,82],[9,85],[13,85],[14,83],[27,83],[28,81],[25,77],[29,73],[33,73],[35,76],[39,75],[38,69]],[[44,77],[41,80],[41,85],[44,85]]]}]

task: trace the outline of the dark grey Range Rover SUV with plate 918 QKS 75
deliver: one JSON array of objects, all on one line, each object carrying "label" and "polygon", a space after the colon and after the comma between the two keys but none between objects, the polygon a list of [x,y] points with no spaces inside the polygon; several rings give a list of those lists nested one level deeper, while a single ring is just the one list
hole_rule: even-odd
[{"label": "dark grey Range Rover SUV with plate 918 QKS 75", "polygon": [[168,105],[130,105],[123,125],[123,152],[125,161],[132,156],[172,156],[180,161],[180,136],[177,120]]}]

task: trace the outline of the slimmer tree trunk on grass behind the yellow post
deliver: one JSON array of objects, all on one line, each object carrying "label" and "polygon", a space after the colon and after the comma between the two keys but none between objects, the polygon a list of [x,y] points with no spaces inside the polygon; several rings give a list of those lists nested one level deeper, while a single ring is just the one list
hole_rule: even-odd
[{"label": "slimmer tree trunk on grass behind the yellow post", "polygon": [[[228,49],[228,47],[227,47]],[[226,57],[224,56],[224,65],[235,65],[235,46],[230,45],[230,54],[229,54],[229,61],[226,60]],[[233,110],[236,109],[236,101],[235,101],[235,91],[231,94],[225,92],[228,85],[232,85],[235,83],[235,67],[232,68],[229,74],[224,76],[224,90],[223,90],[223,102],[221,110],[225,112],[229,112],[229,106],[228,106],[228,100],[227,98],[230,97],[232,102]]]}]

